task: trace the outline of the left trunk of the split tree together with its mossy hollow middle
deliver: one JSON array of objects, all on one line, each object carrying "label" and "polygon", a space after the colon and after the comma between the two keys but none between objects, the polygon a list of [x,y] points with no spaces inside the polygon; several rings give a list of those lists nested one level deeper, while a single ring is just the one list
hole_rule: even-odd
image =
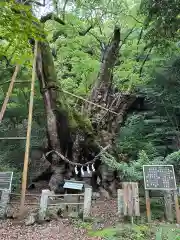
[{"label": "left trunk of the split tree together with its mossy hollow middle", "polygon": [[[76,129],[70,126],[68,108],[60,91],[48,42],[38,44],[36,70],[47,116],[47,151],[55,150],[70,161],[82,164],[93,159],[100,150],[95,143],[93,129],[91,124],[86,126],[83,116],[76,116],[79,124]],[[74,174],[74,167],[68,165],[56,153],[49,155],[48,159],[53,172],[49,186],[55,192],[63,192],[64,179]]]}]

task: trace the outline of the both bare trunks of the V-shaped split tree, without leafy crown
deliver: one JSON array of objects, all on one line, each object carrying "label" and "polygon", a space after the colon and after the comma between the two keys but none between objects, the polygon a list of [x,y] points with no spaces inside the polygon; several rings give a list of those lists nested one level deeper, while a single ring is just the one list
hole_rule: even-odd
[{"label": "both bare trunks of the V-shaped split tree, without leafy crown", "polygon": [[[48,14],[42,20],[46,21],[52,16],[53,14]],[[58,21],[57,17],[54,19]],[[61,20],[58,22],[65,24]],[[71,161],[84,163],[99,153],[100,147],[96,143],[96,139],[99,140],[101,147],[112,144],[118,126],[123,123],[127,109],[134,101],[134,97],[130,94],[120,94],[113,88],[113,69],[118,58],[119,45],[120,29],[116,27],[112,41],[103,55],[98,79],[89,97],[89,100],[110,109],[110,111],[104,109],[99,111],[99,108],[92,107],[92,105],[85,106],[84,109],[88,109],[85,111],[85,115],[91,119],[93,129],[91,126],[87,128],[85,122],[82,121],[83,126],[81,122],[81,126],[77,126],[74,130],[70,127],[65,98],[62,91],[59,91],[61,90],[59,89],[60,84],[49,44],[46,40],[39,42],[36,70],[47,116],[47,151],[55,150]],[[63,191],[64,179],[67,177],[67,173],[73,172],[73,168],[70,168],[57,154],[49,155],[48,160],[53,172],[49,186],[54,191]],[[99,167],[99,163],[97,167]],[[104,165],[101,165],[99,169],[103,187],[111,190],[110,185],[114,183],[114,171],[107,169],[107,166]],[[68,177],[71,177],[71,174]]]}]

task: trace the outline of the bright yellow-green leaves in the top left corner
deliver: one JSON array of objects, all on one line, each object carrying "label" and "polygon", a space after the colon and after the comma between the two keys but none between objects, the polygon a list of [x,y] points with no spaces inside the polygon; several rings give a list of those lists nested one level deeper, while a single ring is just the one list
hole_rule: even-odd
[{"label": "bright yellow-green leaves in the top left corner", "polygon": [[29,40],[42,40],[45,34],[31,10],[14,0],[0,3],[0,58],[6,56],[12,63],[31,64]]}]

